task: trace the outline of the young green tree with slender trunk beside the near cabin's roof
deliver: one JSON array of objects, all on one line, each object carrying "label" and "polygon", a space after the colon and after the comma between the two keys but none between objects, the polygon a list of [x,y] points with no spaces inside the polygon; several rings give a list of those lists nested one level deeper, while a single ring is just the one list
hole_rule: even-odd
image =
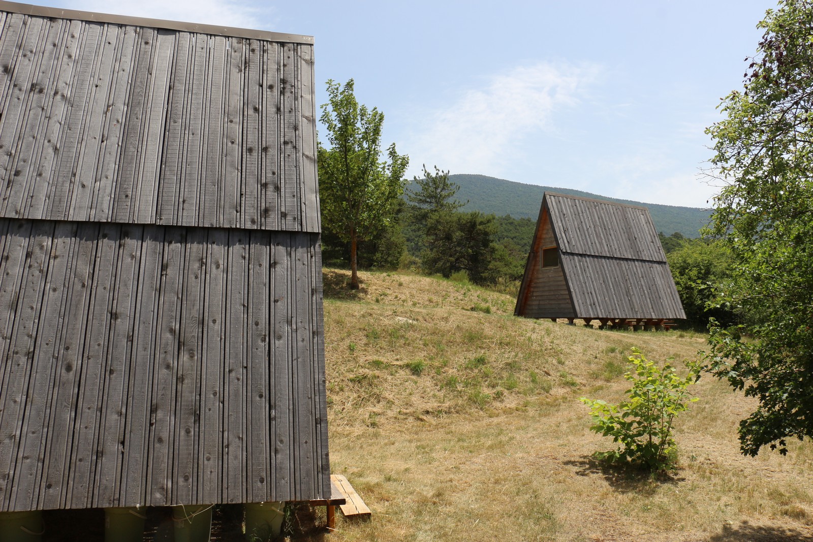
[{"label": "young green tree with slender trunk beside the near cabin's roof", "polygon": [[384,114],[359,105],[352,79],[343,87],[333,80],[327,85],[328,103],[322,106],[320,120],[330,148],[321,141],[318,148],[322,222],[350,243],[350,288],[358,288],[358,242],[376,235],[391,220],[403,193],[409,157],[398,154],[393,143],[387,158],[380,159]]}]

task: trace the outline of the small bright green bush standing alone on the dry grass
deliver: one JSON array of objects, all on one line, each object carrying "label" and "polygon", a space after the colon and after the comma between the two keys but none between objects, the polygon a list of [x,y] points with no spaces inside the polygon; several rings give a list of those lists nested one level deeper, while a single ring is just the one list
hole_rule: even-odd
[{"label": "small bright green bush standing alone on the dry grass", "polygon": [[625,393],[627,400],[611,405],[601,399],[580,401],[590,407],[593,416],[591,431],[611,436],[620,447],[598,453],[609,462],[630,462],[650,470],[667,469],[676,457],[673,436],[675,418],[689,410],[689,384],[698,379],[699,367],[689,366],[685,378],[677,375],[675,367],[668,363],[661,369],[637,350],[630,356],[631,371],[624,378],[632,383]]}]

